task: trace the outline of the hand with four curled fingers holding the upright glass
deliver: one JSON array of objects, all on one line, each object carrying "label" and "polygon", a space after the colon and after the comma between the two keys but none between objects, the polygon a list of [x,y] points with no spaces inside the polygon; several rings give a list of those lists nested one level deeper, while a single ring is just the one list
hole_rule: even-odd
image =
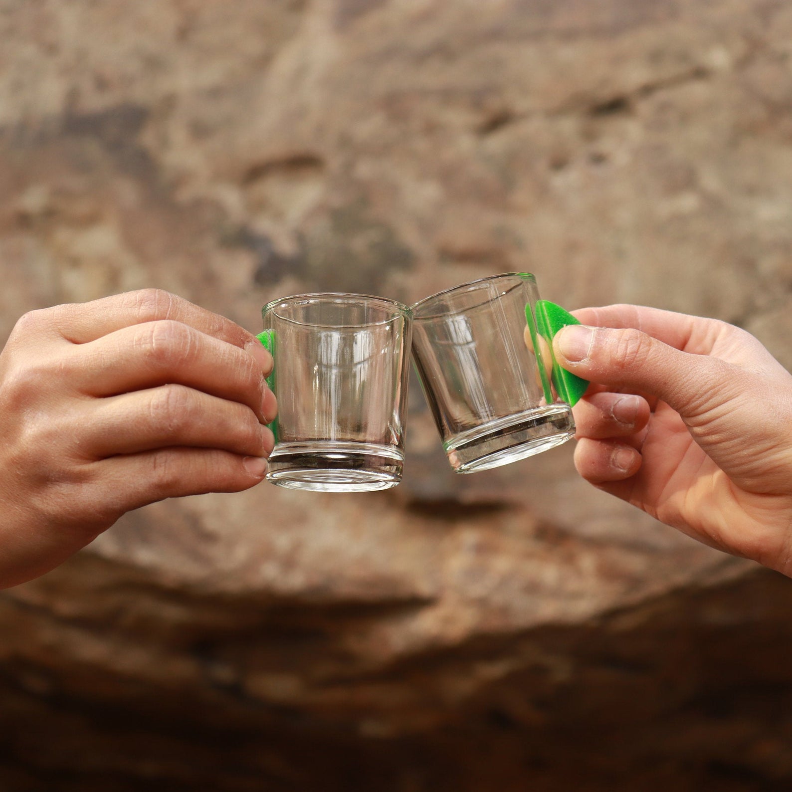
[{"label": "hand with four curled fingers holding the upright glass", "polygon": [[25,314],[0,354],[0,588],[124,512],[264,477],[272,357],[164,291]]}]

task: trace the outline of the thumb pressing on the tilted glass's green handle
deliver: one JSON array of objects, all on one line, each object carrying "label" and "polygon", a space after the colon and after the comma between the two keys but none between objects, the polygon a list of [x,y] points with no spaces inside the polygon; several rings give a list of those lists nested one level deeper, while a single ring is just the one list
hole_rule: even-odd
[{"label": "thumb pressing on the tilted glass's green handle", "polygon": [[656,396],[683,417],[722,401],[733,380],[724,360],[681,352],[632,328],[570,325],[554,337],[553,351],[573,374],[608,389]]}]

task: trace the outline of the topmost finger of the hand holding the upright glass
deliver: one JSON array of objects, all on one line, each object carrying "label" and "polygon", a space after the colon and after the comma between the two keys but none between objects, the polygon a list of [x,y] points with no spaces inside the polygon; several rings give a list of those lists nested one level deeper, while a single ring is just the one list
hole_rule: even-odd
[{"label": "topmost finger of the hand holding the upright glass", "polygon": [[253,333],[236,322],[162,289],[127,291],[50,310],[51,326],[73,344],[87,344],[124,327],[170,319],[243,349],[253,344],[261,347]]}]

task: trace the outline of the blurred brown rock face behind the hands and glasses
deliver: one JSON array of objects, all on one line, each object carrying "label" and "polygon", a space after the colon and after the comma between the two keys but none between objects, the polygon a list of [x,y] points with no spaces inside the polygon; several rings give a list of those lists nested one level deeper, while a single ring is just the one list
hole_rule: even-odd
[{"label": "blurred brown rock face behind the hands and glasses", "polygon": [[[145,286],[257,329],[535,272],[792,365],[786,0],[0,0],[0,333]],[[415,383],[413,383],[415,386]],[[758,406],[760,409],[760,406]],[[0,595],[0,790],[787,790],[792,588],[577,480],[128,515]]]}]

